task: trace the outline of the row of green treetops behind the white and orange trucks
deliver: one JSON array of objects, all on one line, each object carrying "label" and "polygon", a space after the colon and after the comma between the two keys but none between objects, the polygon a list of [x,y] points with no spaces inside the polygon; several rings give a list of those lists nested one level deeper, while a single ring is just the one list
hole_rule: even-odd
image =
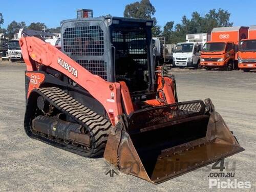
[{"label": "row of green treetops behind the white and orange trucks", "polygon": [[191,19],[183,16],[181,23],[174,26],[174,22],[167,22],[164,26],[163,36],[166,37],[167,44],[184,42],[186,34],[189,33],[210,33],[215,27],[230,27],[230,13],[226,10],[210,10],[204,16],[198,12],[193,12]]}]

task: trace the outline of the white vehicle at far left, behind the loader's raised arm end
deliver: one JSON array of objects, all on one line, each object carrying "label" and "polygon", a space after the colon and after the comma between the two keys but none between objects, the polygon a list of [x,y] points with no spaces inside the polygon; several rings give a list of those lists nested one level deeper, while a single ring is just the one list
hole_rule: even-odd
[{"label": "white vehicle at far left, behind the loader's raised arm end", "polygon": [[22,50],[17,39],[12,39],[8,42],[6,57],[12,62],[22,59]]}]

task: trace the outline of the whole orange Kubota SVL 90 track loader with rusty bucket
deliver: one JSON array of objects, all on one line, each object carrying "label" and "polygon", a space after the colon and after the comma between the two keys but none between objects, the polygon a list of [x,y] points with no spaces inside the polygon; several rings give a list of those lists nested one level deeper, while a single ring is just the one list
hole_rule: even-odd
[{"label": "whole orange Kubota SVL 90 track loader with rusty bucket", "polygon": [[61,23],[61,51],[20,39],[31,138],[153,183],[243,151],[210,99],[178,102],[173,75],[154,66],[152,20]]}]

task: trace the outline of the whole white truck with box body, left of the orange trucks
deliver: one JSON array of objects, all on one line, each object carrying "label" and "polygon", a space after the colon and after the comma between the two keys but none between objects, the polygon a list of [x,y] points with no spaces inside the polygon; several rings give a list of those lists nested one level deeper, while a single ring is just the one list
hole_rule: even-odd
[{"label": "whole white truck with box body, left of the orange trucks", "polygon": [[173,66],[199,68],[201,50],[207,40],[207,33],[187,34],[186,42],[179,42],[174,49]]}]

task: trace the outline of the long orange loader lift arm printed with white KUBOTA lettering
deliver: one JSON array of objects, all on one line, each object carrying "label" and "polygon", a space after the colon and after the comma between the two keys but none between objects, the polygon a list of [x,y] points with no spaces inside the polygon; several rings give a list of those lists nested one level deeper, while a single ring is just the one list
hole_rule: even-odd
[{"label": "long orange loader lift arm printed with white KUBOTA lettering", "polygon": [[113,125],[118,122],[118,115],[122,114],[119,83],[107,82],[101,77],[93,75],[72,58],[39,38],[22,37],[19,43],[27,63],[27,71],[36,71],[36,63],[38,63],[65,74],[104,106]]}]

